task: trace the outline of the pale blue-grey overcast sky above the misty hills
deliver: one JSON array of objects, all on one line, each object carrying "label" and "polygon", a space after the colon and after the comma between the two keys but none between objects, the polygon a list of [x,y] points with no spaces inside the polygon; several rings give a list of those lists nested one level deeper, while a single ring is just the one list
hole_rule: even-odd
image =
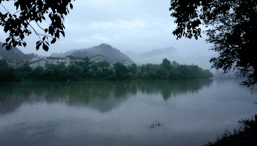
[{"label": "pale blue-grey overcast sky above the misty hills", "polygon": [[[2,2],[8,9],[14,9],[10,3]],[[122,52],[131,50],[143,53],[173,46],[185,54],[214,54],[213,51],[208,51],[211,44],[205,43],[205,35],[198,40],[176,40],[171,34],[176,25],[175,18],[170,16],[170,0],[76,0],[72,4],[73,9],[64,22],[66,36],[60,36],[60,40],[50,44],[48,52],[42,46],[36,51],[35,43],[39,39],[33,32],[25,37],[26,48],[18,48],[25,54],[49,56],[51,53],[107,43]],[[0,8],[2,11],[3,7]],[[1,28],[0,41],[4,42],[6,37]]]}]

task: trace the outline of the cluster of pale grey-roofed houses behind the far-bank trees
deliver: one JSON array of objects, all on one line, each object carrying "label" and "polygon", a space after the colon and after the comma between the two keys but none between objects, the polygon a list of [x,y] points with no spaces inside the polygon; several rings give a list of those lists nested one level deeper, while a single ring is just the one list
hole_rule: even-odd
[{"label": "cluster of pale grey-roofed houses behind the far-bank trees", "polygon": [[[39,57],[32,57],[30,60],[15,60],[10,61],[10,59],[3,59],[3,56],[0,55],[0,59],[1,60],[5,60],[7,62],[7,64],[9,66],[14,66],[14,67],[19,67],[19,66],[23,66],[23,65],[29,65],[32,68],[35,68],[37,66],[42,66],[44,67],[44,65],[47,64],[64,64],[65,66],[68,66],[70,64],[78,64],[79,62],[85,62],[85,61],[89,61],[91,63],[91,65],[97,63],[97,62],[101,62],[101,61],[108,61],[104,59],[104,56],[102,54],[97,54],[97,55],[93,55],[91,56],[91,58],[89,57],[75,57],[75,56],[71,56],[68,55],[65,58],[59,58],[59,57],[47,57],[47,59],[40,59]],[[130,62],[128,60],[120,60],[120,61],[114,61],[109,63],[109,67],[110,68],[114,68],[114,64],[115,63],[121,63],[123,65],[125,65],[126,67],[128,67],[130,64]]]}]

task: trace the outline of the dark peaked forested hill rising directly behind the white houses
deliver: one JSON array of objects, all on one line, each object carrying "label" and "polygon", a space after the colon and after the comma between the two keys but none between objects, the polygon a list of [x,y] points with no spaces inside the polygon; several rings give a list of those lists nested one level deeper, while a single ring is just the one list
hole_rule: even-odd
[{"label": "dark peaked forested hill rising directly behind the white houses", "polygon": [[127,55],[123,54],[120,50],[113,48],[108,44],[101,44],[99,46],[94,46],[88,49],[74,49],[67,51],[65,53],[52,53],[50,56],[52,57],[66,57],[67,55],[85,57],[89,58],[96,54],[102,54],[104,59],[108,60],[108,62],[119,61],[119,60],[128,60],[130,63],[134,61],[131,60]]}]

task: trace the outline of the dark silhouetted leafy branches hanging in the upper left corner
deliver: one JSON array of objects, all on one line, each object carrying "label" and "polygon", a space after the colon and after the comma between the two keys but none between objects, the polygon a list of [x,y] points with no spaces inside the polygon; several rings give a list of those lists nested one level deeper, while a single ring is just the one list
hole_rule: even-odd
[{"label": "dark silhouetted leafy branches hanging in the upper left corner", "polygon": [[[16,12],[14,14],[11,14],[2,4],[3,1],[0,0],[0,5],[3,7],[0,9],[0,25],[4,28],[4,32],[9,34],[2,46],[6,45],[7,50],[17,45],[26,47],[23,39],[25,35],[29,36],[32,33],[30,28],[39,37],[39,41],[36,42],[36,50],[42,45],[43,49],[48,51],[49,41],[51,44],[55,43],[60,34],[65,37],[64,15],[67,15],[69,9],[73,8],[72,0],[15,0]],[[48,24],[48,18],[50,19],[49,27],[42,28],[40,24],[42,21]],[[42,33],[32,26],[32,22],[38,25]]]}]

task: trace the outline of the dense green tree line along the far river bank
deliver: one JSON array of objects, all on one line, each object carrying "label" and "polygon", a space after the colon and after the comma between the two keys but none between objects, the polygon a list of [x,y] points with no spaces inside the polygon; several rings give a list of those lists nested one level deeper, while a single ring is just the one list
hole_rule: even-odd
[{"label": "dense green tree line along the far river bank", "polygon": [[197,65],[182,65],[164,58],[161,64],[121,63],[110,67],[105,61],[91,65],[89,61],[78,64],[45,64],[32,68],[24,65],[14,69],[0,60],[0,81],[79,81],[79,80],[155,80],[155,79],[205,79],[213,74]]}]

